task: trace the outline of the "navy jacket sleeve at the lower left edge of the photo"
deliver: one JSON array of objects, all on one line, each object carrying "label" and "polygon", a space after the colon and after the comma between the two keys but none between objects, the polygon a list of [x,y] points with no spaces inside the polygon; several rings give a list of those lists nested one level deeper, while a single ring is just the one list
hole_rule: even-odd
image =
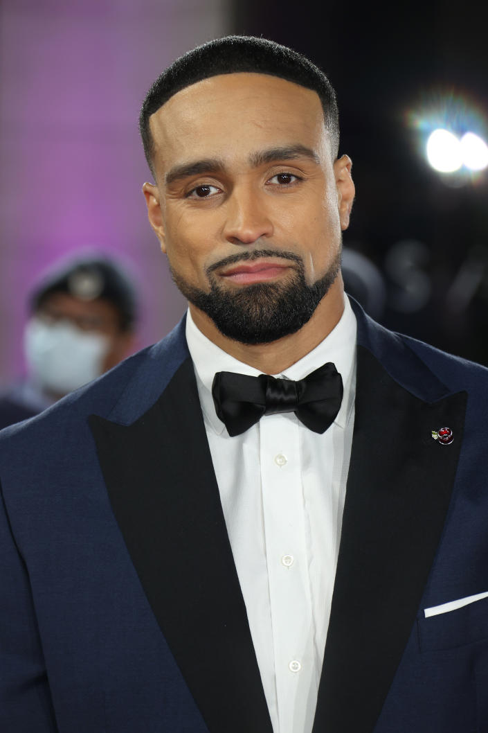
[{"label": "navy jacket sleeve at the lower left edge of the photo", "polygon": [[58,733],[29,575],[0,486],[0,731]]}]

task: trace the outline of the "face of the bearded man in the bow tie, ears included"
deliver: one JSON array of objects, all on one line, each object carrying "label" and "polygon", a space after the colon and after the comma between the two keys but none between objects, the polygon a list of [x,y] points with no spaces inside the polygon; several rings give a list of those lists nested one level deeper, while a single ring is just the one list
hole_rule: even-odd
[{"label": "face of the bearded man in the bow tie, ears included", "polygon": [[336,278],[354,194],[318,95],[270,75],[219,75],[171,97],[150,126],[149,219],[184,295],[203,310],[212,294],[261,302],[249,313],[262,320],[283,309],[280,293],[293,300],[322,282],[313,312]]}]

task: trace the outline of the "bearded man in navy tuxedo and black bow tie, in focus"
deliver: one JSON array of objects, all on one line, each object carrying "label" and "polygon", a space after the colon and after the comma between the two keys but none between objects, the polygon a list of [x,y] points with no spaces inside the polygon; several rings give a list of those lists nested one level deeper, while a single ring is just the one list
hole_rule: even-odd
[{"label": "bearded man in navy tuxedo and black bow tie, in focus", "polygon": [[223,38],[141,131],[190,308],[2,436],[3,730],[482,729],[487,372],[344,298],[327,79]]}]

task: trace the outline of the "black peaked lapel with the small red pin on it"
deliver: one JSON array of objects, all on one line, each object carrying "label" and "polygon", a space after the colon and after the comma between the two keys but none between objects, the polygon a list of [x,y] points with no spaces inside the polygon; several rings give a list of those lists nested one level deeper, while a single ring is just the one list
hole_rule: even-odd
[{"label": "black peaked lapel with the small red pin on it", "polygon": [[[354,439],[314,733],[371,733],[443,531],[466,394],[429,404],[358,347]],[[439,427],[454,442],[432,439]]]}]

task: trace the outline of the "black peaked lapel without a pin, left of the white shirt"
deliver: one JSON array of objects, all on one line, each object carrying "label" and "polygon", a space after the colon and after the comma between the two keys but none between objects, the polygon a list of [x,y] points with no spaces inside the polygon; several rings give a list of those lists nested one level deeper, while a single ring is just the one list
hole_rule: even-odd
[{"label": "black peaked lapel without a pin, left of the white shirt", "polygon": [[190,359],[129,427],[91,416],[115,517],[211,733],[272,733]]}]

